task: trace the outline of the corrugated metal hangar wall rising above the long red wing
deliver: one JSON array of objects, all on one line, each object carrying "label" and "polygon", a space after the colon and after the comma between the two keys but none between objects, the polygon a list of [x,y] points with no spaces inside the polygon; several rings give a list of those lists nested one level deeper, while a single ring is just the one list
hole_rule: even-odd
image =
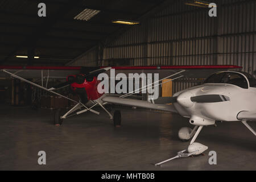
[{"label": "corrugated metal hangar wall rising above the long red wing", "polygon": [[80,56],[71,65],[109,65],[125,60],[126,65],[236,64],[243,71],[256,70],[255,1],[216,1],[217,18],[209,9],[172,4],[155,17],[130,28],[104,48]]}]

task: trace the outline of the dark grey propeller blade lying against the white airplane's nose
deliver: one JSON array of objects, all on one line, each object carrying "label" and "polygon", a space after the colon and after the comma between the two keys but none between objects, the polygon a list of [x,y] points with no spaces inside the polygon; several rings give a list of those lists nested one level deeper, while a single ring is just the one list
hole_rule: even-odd
[{"label": "dark grey propeller blade lying against the white airplane's nose", "polygon": [[230,98],[228,96],[212,94],[212,95],[191,97],[191,101],[198,102],[198,103],[214,103],[214,102],[230,101]]}]

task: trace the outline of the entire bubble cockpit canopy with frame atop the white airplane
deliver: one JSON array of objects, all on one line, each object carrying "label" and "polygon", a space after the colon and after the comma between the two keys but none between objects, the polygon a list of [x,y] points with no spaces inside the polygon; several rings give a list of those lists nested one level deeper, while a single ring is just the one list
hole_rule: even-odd
[{"label": "entire bubble cockpit canopy with frame atop the white airplane", "polygon": [[[246,79],[247,78],[247,79]],[[247,80],[249,80],[249,85]],[[204,84],[232,84],[243,89],[256,87],[256,79],[245,72],[218,72],[214,73],[205,80]]]}]

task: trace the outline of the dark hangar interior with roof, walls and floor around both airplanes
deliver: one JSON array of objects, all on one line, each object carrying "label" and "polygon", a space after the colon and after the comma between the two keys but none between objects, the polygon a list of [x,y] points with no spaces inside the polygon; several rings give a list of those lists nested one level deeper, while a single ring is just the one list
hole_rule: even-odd
[{"label": "dark hangar interior with roof, walls and floor around both airplanes", "polygon": [[[43,2],[46,16],[39,17],[41,1],[0,1],[0,67],[237,65],[242,68],[235,70],[256,75],[255,1]],[[217,5],[216,17],[209,16],[212,2]],[[117,23],[121,20],[126,24]],[[160,94],[172,96],[199,85],[213,72],[196,70],[162,85]],[[160,78],[170,74],[158,73]],[[42,74],[43,81],[41,77],[30,79],[47,82],[48,88],[65,77],[64,72],[51,78],[47,71]],[[51,93],[1,75],[0,94],[1,170],[256,169],[255,137],[239,122],[205,127],[197,139],[217,152],[218,165],[209,165],[207,151],[205,156],[177,159],[157,168],[152,163],[188,146],[177,136],[180,127],[190,126],[187,118],[114,106],[122,113],[120,128],[113,127],[101,108],[100,115],[84,113],[55,127]],[[136,97],[144,100],[143,94]],[[71,105],[62,99],[56,103],[62,109]],[[38,165],[38,151],[47,152],[47,165]]]}]

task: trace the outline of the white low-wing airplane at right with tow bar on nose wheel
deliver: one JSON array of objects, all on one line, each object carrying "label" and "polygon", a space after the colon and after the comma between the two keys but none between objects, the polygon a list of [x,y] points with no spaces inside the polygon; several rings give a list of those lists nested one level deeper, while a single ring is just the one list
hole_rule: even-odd
[{"label": "white low-wing airplane at right with tow bar on nose wheel", "polygon": [[[106,97],[103,100],[113,104],[137,106],[136,102],[124,98]],[[256,79],[248,73],[214,73],[203,85],[175,93],[169,102],[173,103],[177,113],[189,118],[189,123],[195,127],[183,127],[179,130],[181,140],[192,138],[187,150],[178,152],[174,158],[155,164],[156,166],[176,158],[202,154],[208,147],[195,140],[204,126],[215,125],[216,121],[241,121],[256,135],[255,130],[247,123],[256,121]]]}]

